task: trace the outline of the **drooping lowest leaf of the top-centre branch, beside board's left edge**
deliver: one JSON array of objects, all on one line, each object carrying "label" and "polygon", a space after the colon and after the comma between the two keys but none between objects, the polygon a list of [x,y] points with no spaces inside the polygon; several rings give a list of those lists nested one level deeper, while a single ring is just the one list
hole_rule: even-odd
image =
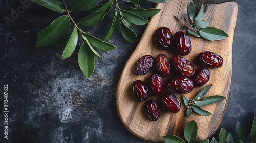
[{"label": "drooping lowest leaf of the top-centre branch, beside board's left edge", "polygon": [[131,43],[137,42],[137,34],[129,26],[125,25],[124,22],[121,25],[121,31],[126,41]]}]

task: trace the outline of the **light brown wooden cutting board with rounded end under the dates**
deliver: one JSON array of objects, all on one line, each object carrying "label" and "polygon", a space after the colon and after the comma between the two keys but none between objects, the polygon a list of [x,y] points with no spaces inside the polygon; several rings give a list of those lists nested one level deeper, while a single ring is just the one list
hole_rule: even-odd
[{"label": "light brown wooden cutting board with rounded end under the dates", "polygon": [[[209,69],[211,77],[206,85],[194,88],[193,91],[185,94],[188,99],[192,99],[203,88],[212,83],[213,86],[205,97],[218,94],[227,98],[222,102],[203,107],[204,110],[212,113],[211,116],[202,116],[193,112],[189,118],[186,118],[186,107],[182,100],[182,94],[174,93],[182,103],[181,110],[178,113],[161,111],[159,120],[151,121],[144,113],[144,102],[138,102],[133,97],[132,83],[135,80],[146,81],[153,74],[150,71],[150,73],[144,76],[136,75],[133,72],[135,63],[144,55],[152,55],[153,58],[156,58],[158,54],[163,53],[169,59],[175,55],[175,53],[170,51],[159,49],[154,42],[153,34],[161,26],[168,27],[173,35],[180,30],[186,32],[186,29],[181,26],[173,15],[184,22],[184,17],[188,16],[187,6],[187,0],[169,0],[167,3],[157,4],[156,8],[161,9],[161,11],[151,18],[138,46],[127,61],[120,77],[116,97],[117,112],[120,119],[124,126],[133,134],[148,141],[160,142],[162,141],[162,136],[170,134],[184,138],[184,127],[191,120],[195,120],[198,124],[197,140],[209,138],[218,129],[226,109],[232,74],[232,42],[238,12],[238,6],[235,2],[209,5],[204,14],[204,20],[210,21],[209,27],[222,29],[229,37],[220,41],[207,41],[189,35],[192,51],[189,55],[183,56],[193,63],[195,69],[198,69],[199,65],[196,64],[194,59],[202,51],[212,51],[224,58],[221,68]],[[165,83],[168,78],[166,76],[163,77]],[[154,100],[158,98],[149,97],[149,99]]]}]

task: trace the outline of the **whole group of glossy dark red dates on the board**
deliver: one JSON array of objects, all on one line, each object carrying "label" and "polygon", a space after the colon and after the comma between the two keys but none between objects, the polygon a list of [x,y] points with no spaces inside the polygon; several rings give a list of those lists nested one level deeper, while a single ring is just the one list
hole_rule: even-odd
[{"label": "whole group of glossy dark red dates on the board", "polygon": [[[182,31],[173,36],[167,27],[160,27],[156,30],[156,40],[162,49],[176,51],[179,55],[188,55],[192,50],[188,35]],[[146,83],[140,80],[133,82],[132,91],[135,99],[143,102],[148,99],[149,94],[160,96],[160,104],[164,110],[179,112],[181,102],[174,94],[164,93],[164,89],[180,94],[189,93],[194,87],[201,87],[209,81],[210,71],[207,68],[219,68],[223,64],[223,58],[214,52],[201,52],[196,58],[201,68],[195,71],[190,61],[178,55],[170,59],[164,54],[159,54],[156,59],[150,55],[141,57],[135,65],[136,74],[145,75],[153,67],[156,74],[151,75]],[[170,79],[165,83],[162,76],[169,75]],[[152,121],[160,117],[159,106],[154,100],[147,100],[144,109]]]}]

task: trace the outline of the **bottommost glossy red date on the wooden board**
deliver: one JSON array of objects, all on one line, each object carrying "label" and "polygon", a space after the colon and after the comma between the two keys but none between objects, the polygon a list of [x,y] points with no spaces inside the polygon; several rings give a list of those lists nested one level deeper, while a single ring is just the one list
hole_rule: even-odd
[{"label": "bottommost glossy red date on the wooden board", "polygon": [[153,99],[145,102],[144,109],[150,120],[156,121],[160,117],[160,109],[158,108],[156,102]]}]

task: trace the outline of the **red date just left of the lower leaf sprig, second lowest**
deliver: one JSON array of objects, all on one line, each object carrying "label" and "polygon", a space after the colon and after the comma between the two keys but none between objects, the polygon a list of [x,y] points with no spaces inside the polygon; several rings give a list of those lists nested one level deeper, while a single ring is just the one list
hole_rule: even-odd
[{"label": "red date just left of the lower leaf sprig, second lowest", "polygon": [[163,108],[167,111],[177,113],[180,111],[180,100],[177,99],[174,94],[166,93],[161,98]]}]

